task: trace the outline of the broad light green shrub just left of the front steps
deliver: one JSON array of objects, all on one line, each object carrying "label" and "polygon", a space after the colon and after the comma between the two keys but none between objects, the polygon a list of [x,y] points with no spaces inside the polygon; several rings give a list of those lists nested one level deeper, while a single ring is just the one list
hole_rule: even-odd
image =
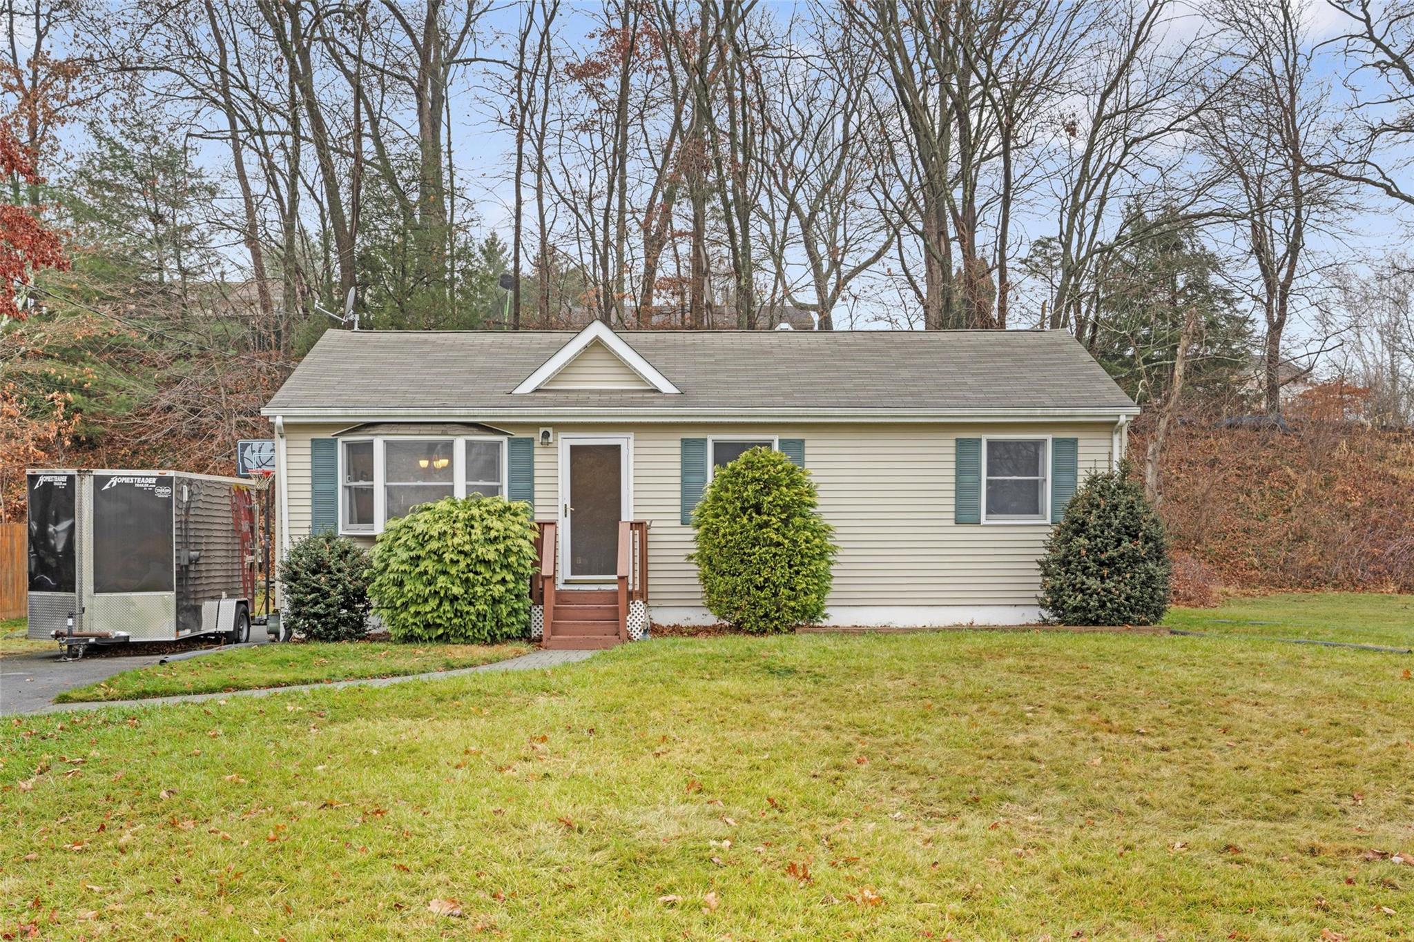
[{"label": "broad light green shrub just left of the front steps", "polygon": [[530,634],[534,566],[529,504],[444,497],[387,524],[369,593],[395,641],[492,644]]}]

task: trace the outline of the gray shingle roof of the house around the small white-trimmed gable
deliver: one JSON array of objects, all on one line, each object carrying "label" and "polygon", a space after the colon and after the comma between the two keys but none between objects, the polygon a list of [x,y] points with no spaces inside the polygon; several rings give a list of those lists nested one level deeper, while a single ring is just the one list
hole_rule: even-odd
[{"label": "gray shingle roof of the house around the small white-trimmed gable", "polygon": [[267,415],[1133,412],[1065,330],[633,330],[682,395],[510,390],[574,332],[329,330]]}]

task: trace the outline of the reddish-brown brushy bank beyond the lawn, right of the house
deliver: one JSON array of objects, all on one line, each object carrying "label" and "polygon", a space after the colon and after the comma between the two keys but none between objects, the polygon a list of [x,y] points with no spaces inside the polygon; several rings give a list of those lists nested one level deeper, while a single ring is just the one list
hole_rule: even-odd
[{"label": "reddish-brown brushy bank beyond the lawn, right of the house", "polygon": [[[1131,451],[1144,443],[1143,422]],[[1175,600],[1239,590],[1414,592],[1414,431],[1290,419],[1171,431],[1159,515]]]}]

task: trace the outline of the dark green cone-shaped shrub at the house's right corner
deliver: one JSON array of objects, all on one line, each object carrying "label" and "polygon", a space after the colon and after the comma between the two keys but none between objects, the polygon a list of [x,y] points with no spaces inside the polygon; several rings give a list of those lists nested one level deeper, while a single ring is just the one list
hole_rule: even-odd
[{"label": "dark green cone-shaped shrub at the house's right corner", "polygon": [[1155,624],[1168,609],[1168,537],[1130,469],[1076,490],[1041,559],[1041,609],[1059,624]]}]

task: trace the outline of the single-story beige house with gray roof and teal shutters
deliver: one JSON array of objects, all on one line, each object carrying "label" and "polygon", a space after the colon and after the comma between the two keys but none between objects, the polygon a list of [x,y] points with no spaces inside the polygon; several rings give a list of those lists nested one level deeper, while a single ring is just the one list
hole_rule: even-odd
[{"label": "single-story beige house with gray roof and teal shutters", "polygon": [[530,501],[546,544],[536,626],[557,604],[567,645],[563,631],[611,616],[619,637],[649,613],[711,620],[691,511],[714,467],[756,445],[810,472],[836,528],[829,624],[1032,621],[1051,525],[1079,480],[1120,460],[1138,407],[1063,330],[594,322],[329,330],[263,414],[281,548],[322,530],[372,545],[447,494]]}]

